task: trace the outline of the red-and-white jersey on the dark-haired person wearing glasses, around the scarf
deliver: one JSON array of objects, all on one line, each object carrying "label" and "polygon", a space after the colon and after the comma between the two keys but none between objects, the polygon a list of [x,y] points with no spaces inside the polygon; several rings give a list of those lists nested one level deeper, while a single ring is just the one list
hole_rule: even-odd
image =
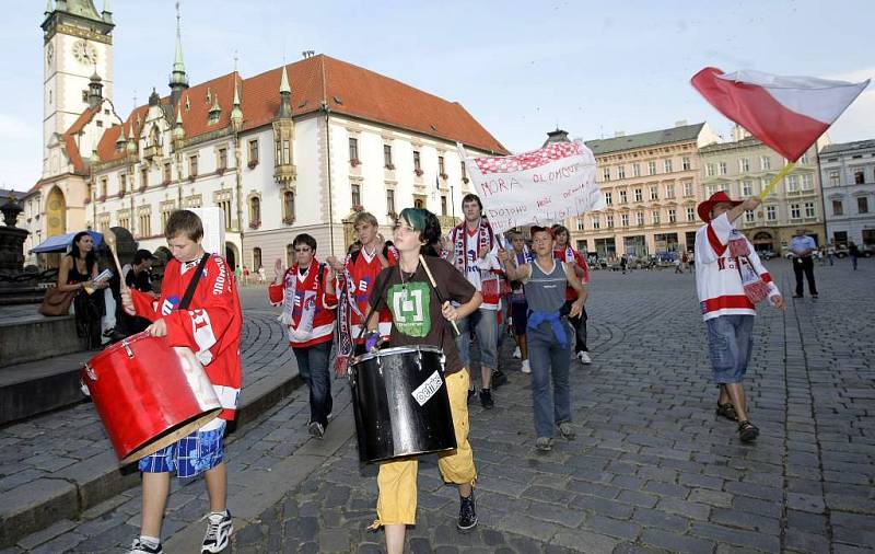
[{"label": "red-and-white jersey on the dark-haired person wearing glasses, around the scarf", "polygon": [[[323,275],[316,278],[319,273],[319,263],[314,258],[310,267],[301,275],[298,265],[293,265],[285,270],[282,282],[271,284],[267,289],[268,299],[272,305],[282,305],[285,300],[285,288],[290,287],[291,279],[296,279],[294,284],[294,308],[292,309],[292,322],[289,325],[289,344],[292,348],[306,348],[330,341],[335,331],[335,308],[337,308],[337,297],[325,292],[325,280],[328,278],[329,269],[323,266]],[[313,313],[313,328],[303,332],[299,328],[302,315],[304,314],[304,303],[307,292],[315,292],[315,312]]]}]

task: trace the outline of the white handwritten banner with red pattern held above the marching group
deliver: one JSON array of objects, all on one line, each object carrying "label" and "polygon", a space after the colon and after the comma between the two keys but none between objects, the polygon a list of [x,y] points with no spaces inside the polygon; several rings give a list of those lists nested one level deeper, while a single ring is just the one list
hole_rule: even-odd
[{"label": "white handwritten banner with red pattern held above the marching group", "polygon": [[495,233],[518,226],[560,223],[605,208],[595,157],[581,141],[551,142],[518,155],[467,158],[483,211]]}]

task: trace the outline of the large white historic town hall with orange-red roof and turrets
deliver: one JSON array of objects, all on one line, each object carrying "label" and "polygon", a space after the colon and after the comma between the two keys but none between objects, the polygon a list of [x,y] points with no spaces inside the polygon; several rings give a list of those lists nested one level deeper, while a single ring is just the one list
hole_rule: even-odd
[{"label": "large white historic town hall with orange-red roof and turrets", "polygon": [[[44,28],[57,35],[66,27],[51,22],[72,16],[91,24],[92,12],[91,0],[58,2]],[[89,59],[112,59],[90,45]],[[456,141],[474,154],[508,153],[458,103],[324,55],[189,85],[178,26],[170,94],[153,91],[121,117],[109,81],[92,73],[79,115],[52,131],[58,171],[44,173],[32,194],[46,211],[61,200],[66,221],[44,229],[44,239],[124,227],[140,247],[155,250],[172,210],[214,206],[224,213],[232,266],[289,263],[301,232],[324,257],[346,252],[360,210],[373,212],[387,236],[393,216],[408,206],[453,224],[455,205],[472,191]]]}]

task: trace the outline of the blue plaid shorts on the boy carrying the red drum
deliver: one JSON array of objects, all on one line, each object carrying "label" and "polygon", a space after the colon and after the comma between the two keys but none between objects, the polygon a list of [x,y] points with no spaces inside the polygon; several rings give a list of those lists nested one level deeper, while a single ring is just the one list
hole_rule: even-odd
[{"label": "blue plaid shorts on the boy carrying the red drum", "polygon": [[[140,460],[140,471],[147,473],[176,472],[177,477],[195,477],[211,470],[224,459],[225,422],[219,428],[196,430],[154,454]],[[212,422],[210,427],[214,427]]]}]

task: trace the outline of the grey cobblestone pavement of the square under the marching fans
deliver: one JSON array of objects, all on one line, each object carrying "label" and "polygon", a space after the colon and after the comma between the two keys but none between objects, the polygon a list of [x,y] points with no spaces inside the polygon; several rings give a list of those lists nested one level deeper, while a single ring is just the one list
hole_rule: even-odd
[{"label": "grey cobblestone pavement of the square under the marching fans", "polygon": [[[536,452],[527,376],[497,406],[471,404],[480,524],[455,529],[457,493],[434,458],[420,464],[410,552],[812,552],[875,547],[875,263],[816,267],[820,299],[761,309],[746,389],[762,435],[738,441],[714,416],[715,390],[690,275],[596,272],[594,363],[572,365],[575,441]],[[792,293],[789,263],[768,263]],[[324,441],[306,436],[306,393],[229,445],[232,551],[380,552],[375,468],[360,466],[349,393],[335,381]],[[175,483],[165,551],[197,552],[206,496]],[[118,552],[136,534],[139,489],[7,552]]]}]

